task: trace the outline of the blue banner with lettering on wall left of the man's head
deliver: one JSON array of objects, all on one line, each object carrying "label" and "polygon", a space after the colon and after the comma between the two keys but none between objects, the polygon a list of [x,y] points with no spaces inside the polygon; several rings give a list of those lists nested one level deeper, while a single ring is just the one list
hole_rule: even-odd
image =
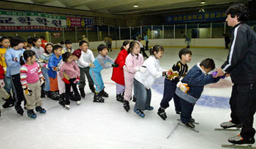
[{"label": "blue banner with lettering on wall left of the man's head", "polygon": [[209,21],[225,21],[227,16],[225,11],[219,12],[201,12],[192,15],[169,15],[166,16],[167,24],[175,23],[192,23],[192,22],[209,22]]}]

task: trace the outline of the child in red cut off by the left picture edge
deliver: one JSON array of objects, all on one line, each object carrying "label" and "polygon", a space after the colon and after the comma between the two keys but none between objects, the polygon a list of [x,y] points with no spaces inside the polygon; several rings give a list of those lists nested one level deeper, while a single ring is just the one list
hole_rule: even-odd
[{"label": "child in red cut off by the left picture edge", "polygon": [[[0,64],[0,96],[2,99],[6,100],[6,102],[3,104],[4,108],[12,107],[14,104],[14,100],[12,99],[12,96],[7,93],[7,91],[4,89],[4,69]],[[1,110],[0,110],[1,115]]]}]

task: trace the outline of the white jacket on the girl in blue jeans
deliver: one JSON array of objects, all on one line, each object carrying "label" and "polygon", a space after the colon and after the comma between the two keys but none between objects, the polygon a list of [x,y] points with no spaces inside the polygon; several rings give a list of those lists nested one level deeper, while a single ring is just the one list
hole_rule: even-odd
[{"label": "white jacket on the girl in blue jeans", "polygon": [[151,88],[154,80],[162,77],[163,69],[159,66],[159,60],[155,56],[149,56],[149,58],[144,61],[142,66],[146,66],[147,72],[136,72],[135,79],[145,85],[146,88]]}]

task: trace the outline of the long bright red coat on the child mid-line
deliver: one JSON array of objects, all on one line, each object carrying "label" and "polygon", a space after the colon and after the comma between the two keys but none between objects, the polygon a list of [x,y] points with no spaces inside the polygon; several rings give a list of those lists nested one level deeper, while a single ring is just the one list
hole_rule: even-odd
[{"label": "long bright red coat on the child mid-line", "polygon": [[127,50],[123,49],[121,50],[120,53],[118,53],[118,56],[116,58],[115,63],[118,64],[118,67],[113,67],[113,73],[111,80],[114,82],[124,85],[124,64],[125,64],[125,59],[127,58],[128,53]]}]

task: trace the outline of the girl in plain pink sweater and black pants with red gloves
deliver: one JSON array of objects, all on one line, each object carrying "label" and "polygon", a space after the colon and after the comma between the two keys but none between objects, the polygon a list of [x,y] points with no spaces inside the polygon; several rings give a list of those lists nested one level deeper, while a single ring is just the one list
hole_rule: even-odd
[{"label": "girl in plain pink sweater and black pants with red gloves", "polygon": [[[78,93],[77,83],[80,80],[80,69],[78,65],[73,61],[73,56],[71,53],[67,52],[62,55],[64,64],[61,65],[59,70],[59,76],[65,83],[65,100],[60,101],[59,103],[66,107],[67,109],[70,108],[69,104],[69,97],[71,96],[71,86],[73,91],[75,92],[75,100],[77,104],[80,104],[80,94]],[[66,72],[67,77],[64,77],[63,73]]]}]

